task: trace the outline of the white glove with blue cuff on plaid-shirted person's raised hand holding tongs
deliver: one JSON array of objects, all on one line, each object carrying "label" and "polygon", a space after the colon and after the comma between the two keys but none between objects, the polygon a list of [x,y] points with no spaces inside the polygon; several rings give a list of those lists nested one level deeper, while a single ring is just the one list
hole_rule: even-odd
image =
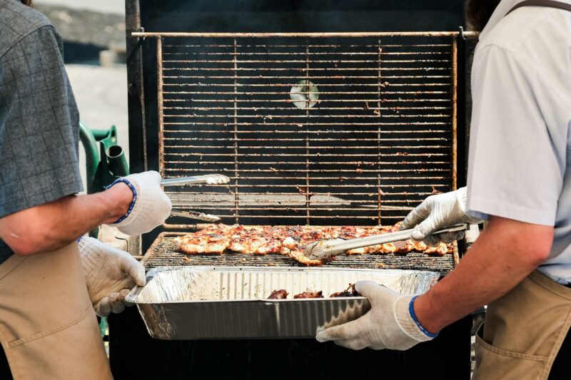
[{"label": "white glove with blue cuff on plaid-shirted person's raised hand holding tongs", "polygon": [[[162,225],[171,215],[171,200],[161,188],[161,175],[151,170],[127,175],[116,183],[126,183],[133,191],[133,202],[126,216],[112,223],[126,235],[141,235]],[[110,186],[110,187],[111,187]]]}]

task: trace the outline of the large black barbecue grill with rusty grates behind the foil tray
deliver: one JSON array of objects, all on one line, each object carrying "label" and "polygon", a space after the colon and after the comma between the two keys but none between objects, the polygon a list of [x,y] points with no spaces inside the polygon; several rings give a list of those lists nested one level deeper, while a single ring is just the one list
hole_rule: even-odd
[{"label": "large black barbecue grill with rusty grates behind the foil tray", "polygon": [[[400,10],[414,9],[412,2],[400,3]],[[392,225],[428,195],[463,183],[463,62],[464,38],[469,34],[399,28],[331,31],[339,27],[315,15],[308,24],[300,22],[305,25],[295,31],[289,30],[295,23],[258,25],[258,31],[251,31],[260,22],[259,9],[246,12],[251,25],[245,26],[248,20],[233,19],[231,28],[241,30],[228,31],[228,24],[221,21],[225,16],[210,19],[210,24],[191,23],[197,21],[197,13],[208,13],[201,7],[216,7],[216,3],[198,5],[200,11],[174,1],[160,6],[127,2],[131,170],[156,169],[165,178],[204,173],[231,178],[228,185],[169,186],[166,191],[173,207],[218,215],[226,224]],[[365,2],[353,5],[375,10]],[[387,11],[395,12],[393,7]],[[293,13],[275,4],[262,8],[270,20],[284,12],[303,20],[308,12],[303,6]],[[314,9],[310,6],[310,10]],[[350,9],[340,6],[337,11],[343,14]],[[457,21],[455,26],[460,24]],[[174,238],[206,227],[185,222],[171,217],[158,236],[143,237],[146,267],[298,265],[281,255],[184,260]],[[423,253],[340,256],[324,267],[446,273],[461,253],[462,247],[459,252],[455,245],[453,254],[442,257]],[[186,370],[198,376],[211,374],[221,352],[226,358],[256,356],[248,364],[236,359],[237,370],[246,366],[246,371],[253,371],[240,375],[244,377],[256,376],[261,368],[275,368],[276,360],[284,360],[276,358],[282,356],[289,358],[290,366],[299,366],[299,373],[320,374],[316,376],[342,373],[321,368],[335,368],[338,355],[355,363],[365,358],[392,363],[405,378],[418,376],[427,363],[454,367],[456,379],[470,370],[468,319],[445,330],[434,342],[406,353],[354,353],[300,340],[157,342],[146,337],[132,310],[111,318],[110,331],[111,364],[121,378],[153,372],[143,364],[137,376],[116,365],[134,358],[135,351],[139,363],[146,363],[141,361],[146,355],[176,361],[168,369],[159,365],[153,372],[173,376]],[[144,343],[128,344],[127,349],[126,342]],[[438,356],[435,350],[440,350]],[[266,362],[266,351],[273,352],[273,366]],[[453,356],[458,358],[454,364]],[[376,376],[373,369],[358,367],[351,368],[353,376]],[[290,375],[297,373],[290,370]]]}]

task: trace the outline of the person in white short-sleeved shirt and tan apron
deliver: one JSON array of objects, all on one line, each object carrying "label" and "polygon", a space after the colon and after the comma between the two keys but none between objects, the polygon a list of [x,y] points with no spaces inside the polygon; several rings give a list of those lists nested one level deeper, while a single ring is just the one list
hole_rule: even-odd
[{"label": "person in white short-sleeved shirt and tan apron", "polygon": [[467,9],[475,29],[485,24],[472,68],[468,186],[428,197],[403,228],[434,245],[461,237],[430,235],[440,227],[487,227],[426,294],[356,284],[370,312],[317,339],[408,349],[487,304],[473,379],[569,379],[571,1],[476,0]]}]

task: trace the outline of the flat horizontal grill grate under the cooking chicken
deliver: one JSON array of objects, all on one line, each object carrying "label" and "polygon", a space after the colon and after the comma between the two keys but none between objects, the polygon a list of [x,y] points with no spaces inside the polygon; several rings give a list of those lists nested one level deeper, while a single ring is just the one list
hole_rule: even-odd
[{"label": "flat horizontal grill grate under the cooking chicken", "polygon": [[[305,267],[290,257],[282,255],[184,255],[177,252],[174,239],[181,232],[163,232],[143,257],[143,265],[150,269],[171,265],[211,265],[232,267]],[[189,261],[183,260],[186,257]],[[371,269],[413,269],[450,272],[458,262],[458,249],[452,255],[429,256],[420,252],[408,255],[340,255],[323,267],[371,268]]]}]

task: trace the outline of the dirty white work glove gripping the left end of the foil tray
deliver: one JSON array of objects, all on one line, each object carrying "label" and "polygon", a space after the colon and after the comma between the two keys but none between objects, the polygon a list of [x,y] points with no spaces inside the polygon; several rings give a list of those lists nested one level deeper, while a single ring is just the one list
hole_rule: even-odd
[{"label": "dirty white work glove gripping the left end of the foil tray", "polygon": [[94,237],[78,242],[89,299],[99,317],[121,313],[124,299],[135,285],[145,284],[145,268],[127,252],[106,245]]}]

